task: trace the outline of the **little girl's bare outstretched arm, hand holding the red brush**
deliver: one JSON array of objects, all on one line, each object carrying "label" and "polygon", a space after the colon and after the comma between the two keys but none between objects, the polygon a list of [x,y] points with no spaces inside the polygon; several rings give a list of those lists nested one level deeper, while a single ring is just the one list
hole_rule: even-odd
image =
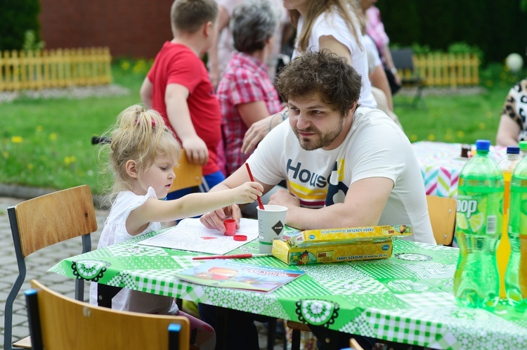
[{"label": "little girl's bare outstretched arm, hand holding the red brush", "polygon": [[173,221],[196,216],[232,204],[252,203],[263,194],[258,182],[246,182],[230,190],[209,193],[190,193],[177,200],[148,198],[145,204],[134,209],[126,219],[126,230],[130,235],[141,233],[152,221]]}]

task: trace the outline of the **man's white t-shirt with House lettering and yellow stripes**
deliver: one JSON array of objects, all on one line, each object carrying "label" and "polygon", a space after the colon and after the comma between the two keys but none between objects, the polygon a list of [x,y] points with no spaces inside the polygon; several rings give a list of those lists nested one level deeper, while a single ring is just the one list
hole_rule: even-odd
[{"label": "man's white t-shirt with House lettering and yellow stripes", "polygon": [[358,108],[342,144],[334,150],[304,150],[288,122],[275,127],[249,157],[254,177],[274,185],[286,179],[302,207],[344,202],[351,183],[370,177],[393,181],[379,225],[410,223],[406,239],[436,244],[424,181],[412,145],[382,111]]}]

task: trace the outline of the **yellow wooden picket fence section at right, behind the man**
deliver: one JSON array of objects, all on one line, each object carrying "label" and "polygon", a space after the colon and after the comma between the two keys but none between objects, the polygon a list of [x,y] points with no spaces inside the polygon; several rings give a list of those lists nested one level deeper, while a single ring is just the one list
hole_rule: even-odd
[{"label": "yellow wooden picket fence section at right, behind the man", "polygon": [[[479,58],[473,53],[429,53],[413,56],[419,77],[427,86],[479,85]],[[399,74],[411,76],[413,72]]]}]

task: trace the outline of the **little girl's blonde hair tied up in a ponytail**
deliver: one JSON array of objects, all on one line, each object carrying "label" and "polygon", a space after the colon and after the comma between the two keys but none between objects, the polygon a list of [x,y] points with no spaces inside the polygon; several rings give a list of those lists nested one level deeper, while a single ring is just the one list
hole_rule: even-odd
[{"label": "little girl's blonde hair tied up in a ponytail", "polygon": [[131,178],[126,172],[126,162],[134,160],[141,174],[148,170],[158,155],[169,155],[177,164],[181,156],[181,146],[174,134],[164,124],[163,118],[155,110],[147,110],[141,105],[132,105],[123,110],[117,122],[105,133],[111,142],[99,150],[99,159],[103,153],[108,156],[108,171],[113,175],[108,192],[110,202],[122,190],[131,188]]}]

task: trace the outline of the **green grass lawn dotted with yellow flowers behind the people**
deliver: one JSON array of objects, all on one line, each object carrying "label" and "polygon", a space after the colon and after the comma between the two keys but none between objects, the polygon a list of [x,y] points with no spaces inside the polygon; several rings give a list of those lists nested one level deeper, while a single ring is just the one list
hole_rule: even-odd
[{"label": "green grass lawn dotted with yellow flowers behind the people", "polygon": [[[145,61],[121,60],[112,66],[114,84],[127,96],[29,98],[1,103],[0,183],[62,189],[88,184],[101,193],[104,179],[91,136],[101,134],[124,108],[140,103],[139,88],[148,71]],[[498,78],[500,79],[500,78]],[[396,113],[410,141],[495,142],[500,110],[512,83],[509,77],[474,96],[425,96],[427,108],[398,107]]]}]

